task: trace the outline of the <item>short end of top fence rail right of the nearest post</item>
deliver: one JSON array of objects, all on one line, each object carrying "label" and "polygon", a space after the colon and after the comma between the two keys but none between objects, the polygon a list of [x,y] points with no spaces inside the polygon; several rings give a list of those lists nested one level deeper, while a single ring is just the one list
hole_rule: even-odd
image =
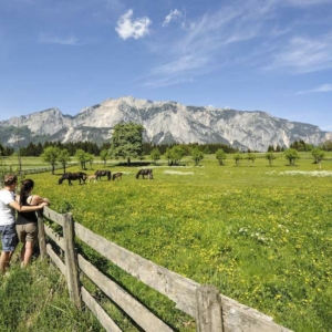
[{"label": "short end of top fence rail right of the nearest post", "polygon": [[292,332],[252,308],[221,295],[224,332]]}]

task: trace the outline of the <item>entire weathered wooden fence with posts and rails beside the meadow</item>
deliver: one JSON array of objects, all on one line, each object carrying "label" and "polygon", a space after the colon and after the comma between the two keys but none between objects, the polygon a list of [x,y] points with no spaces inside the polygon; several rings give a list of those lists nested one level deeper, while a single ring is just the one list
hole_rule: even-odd
[{"label": "entire weathered wooden fence with posts and rails beside the meadow", "polygon": [[[63,228],[63,237],[43,221],[44,218]],[[84,273],[104,294],[118,305],[144,331],[173,331],[117,283],[108,279],[91,262],[75,252],[75,237],[112,263],[175,302],[176,308],[196,321],[199,332],[290,332],[272,318],[219,293],[212,286],[203,286],[167,270],[125,248],[113,243],[73,221],[72,214],[58,214],[45,207],[39,211],[39,243],[41,258],[50,257],[65,276],[71,301],[82,308],[82,301],[94,313],[106,331],[121,331],[97,301],[81,284]],[[64,261],[48,238],[64,252]],[[50,241],[51,242],[51,241]]]}]

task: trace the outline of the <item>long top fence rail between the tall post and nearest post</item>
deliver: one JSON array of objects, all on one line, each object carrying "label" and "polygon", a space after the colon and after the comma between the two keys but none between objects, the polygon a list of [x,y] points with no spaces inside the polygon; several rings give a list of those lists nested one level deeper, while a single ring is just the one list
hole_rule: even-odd
[{"label": "long top fence rail between the tall post and nearest post", "polygon": [[199,286],[197,282],[106,240],[79,222],[75,222],[75,235],[124,271],[168,297],[176,303],[176,308],[196,319],[196,289]]}]

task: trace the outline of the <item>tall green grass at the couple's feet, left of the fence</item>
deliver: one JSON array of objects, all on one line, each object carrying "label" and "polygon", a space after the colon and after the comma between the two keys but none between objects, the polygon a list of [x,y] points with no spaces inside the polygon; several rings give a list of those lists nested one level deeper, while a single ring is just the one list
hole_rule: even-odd
[{"label": "tall green grass at the couple's feet, left of the fence", "polygon": [[66,282],[52,264],[33,262],[28,269],[12,263],[0,277],[0,331],[102,331],[86,308],[71,304]]}]

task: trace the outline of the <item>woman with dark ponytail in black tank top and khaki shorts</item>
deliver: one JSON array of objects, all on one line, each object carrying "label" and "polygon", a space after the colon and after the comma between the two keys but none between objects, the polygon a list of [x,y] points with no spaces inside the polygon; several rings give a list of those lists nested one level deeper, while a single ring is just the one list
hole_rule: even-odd
[{"label": "woman with dark ponytail in black tank top and khaki shorts", "polygon": [[[48,198],[32,195],[34,183],[32,179],[22,181],[20,194],[17,201],[20,206],[40,206],[41,204],[50,204]],[[18,211],[17,232],[19,241],[23,243],[21,249],[21,266],[25,267],[30,263],[33,246],[38,240],[38,218],[35,211]]]}]

